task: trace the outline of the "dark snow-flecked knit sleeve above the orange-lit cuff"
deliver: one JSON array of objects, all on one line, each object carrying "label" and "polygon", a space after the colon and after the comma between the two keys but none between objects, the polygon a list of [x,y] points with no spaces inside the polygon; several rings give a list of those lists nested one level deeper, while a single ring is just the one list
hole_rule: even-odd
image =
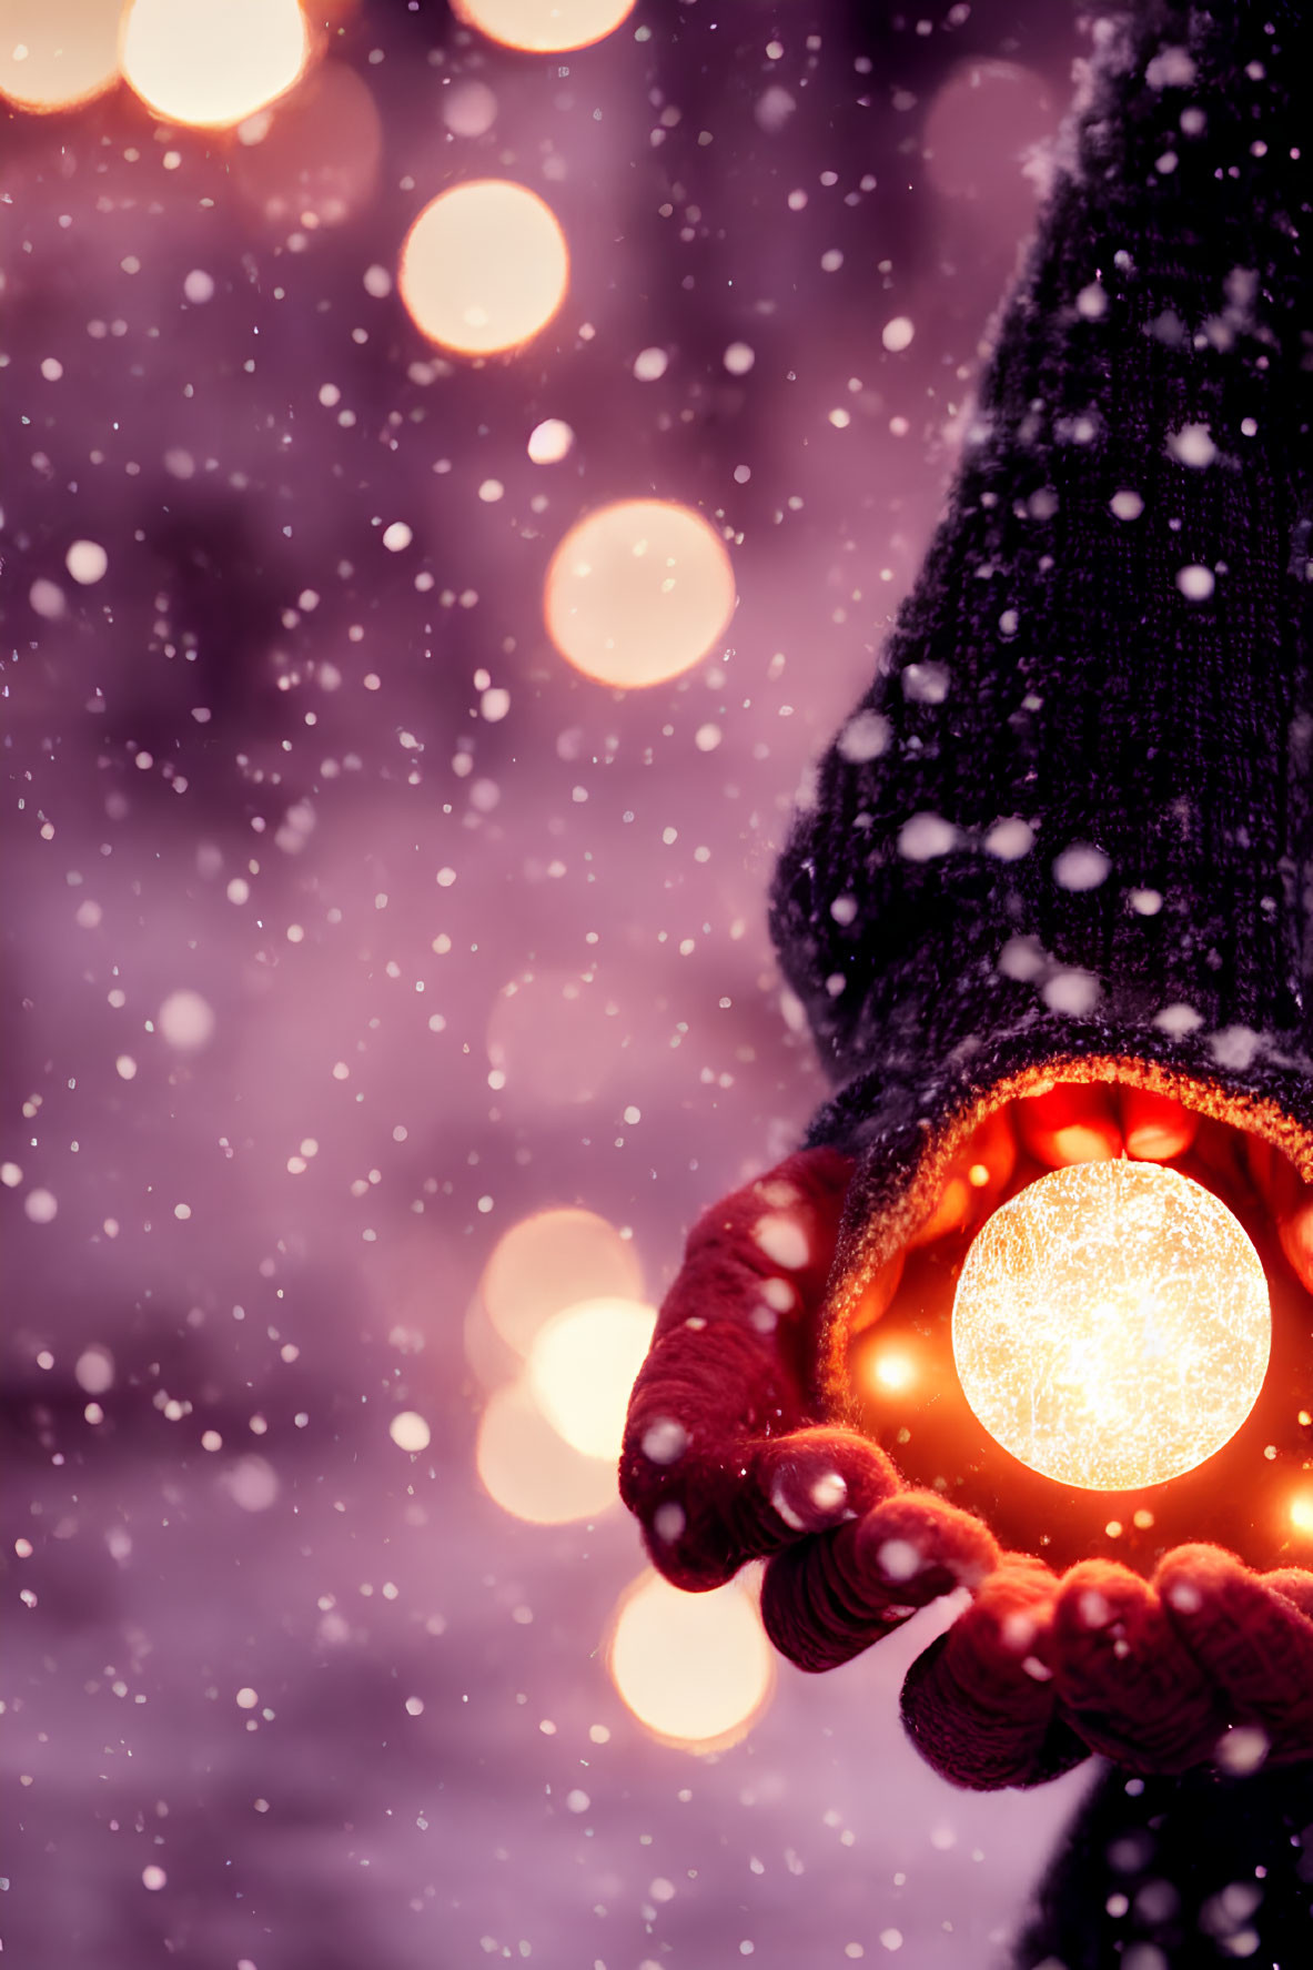
[{"label": "dark snow-flecked knit sleeve above the orange-lit cuff", "polygon": [[773,930],[879,1145],[1013,1066],[1309,1097],[1303,32],[1108,30],[950,510],[781,859]]}]

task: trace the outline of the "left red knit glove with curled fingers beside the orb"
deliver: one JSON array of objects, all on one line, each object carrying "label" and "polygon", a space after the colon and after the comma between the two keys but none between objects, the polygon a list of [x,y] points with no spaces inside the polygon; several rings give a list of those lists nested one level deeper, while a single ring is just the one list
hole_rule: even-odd
[{"label": "left red knit glove with curled fingers beside the orb", "polygon": [[621,1456],[621,1495],[676,1586],[775,1554],[763,1619],[804,1669],[848,1661],[998,1558],[980,1519],[909,1491],[867,1438],[808,1422],[804,1359],[850,1176],[848,1156],[800,1150],[694,1225]]}]

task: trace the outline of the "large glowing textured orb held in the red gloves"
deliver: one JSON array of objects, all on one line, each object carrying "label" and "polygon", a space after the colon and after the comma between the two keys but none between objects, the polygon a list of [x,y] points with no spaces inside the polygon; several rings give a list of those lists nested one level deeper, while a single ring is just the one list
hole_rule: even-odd
[{"label": "large glowing textured orb held in the red gloves", "polygon": [[1021,1464],[1088,1491],[1195,1470],[1262,1389],[1262,1261],[1226,1206],[1153,1162],[1082,1162],[986,1219],[952,1308],[962,1393]]}]

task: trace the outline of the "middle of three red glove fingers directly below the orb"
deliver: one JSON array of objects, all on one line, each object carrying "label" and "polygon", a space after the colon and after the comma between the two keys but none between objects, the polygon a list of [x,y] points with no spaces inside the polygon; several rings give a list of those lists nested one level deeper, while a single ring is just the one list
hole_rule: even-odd
[{"label": "middle of three red glove fingers directly below the orb", "polygon": [[1049,1657],[1063,1714],[1092,1751],[1155,1773],[1189,1771],[1212,1755],[1224,1716],[1210,1678],[1153,1588],[1126,1566],[1071,1568]]}]

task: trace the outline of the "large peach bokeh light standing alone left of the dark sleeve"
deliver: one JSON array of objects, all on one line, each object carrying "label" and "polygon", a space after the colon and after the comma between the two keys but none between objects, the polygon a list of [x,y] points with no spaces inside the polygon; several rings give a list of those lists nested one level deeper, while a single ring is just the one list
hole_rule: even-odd
[{"label": "large peach bokeh light standing alone left of the dark sleeve", "polygon": [[666,684],[733,615],[733,567],[702,514],[670,500],[599,506],[552,556],[544,615],[560,654],[599,684]]}]

